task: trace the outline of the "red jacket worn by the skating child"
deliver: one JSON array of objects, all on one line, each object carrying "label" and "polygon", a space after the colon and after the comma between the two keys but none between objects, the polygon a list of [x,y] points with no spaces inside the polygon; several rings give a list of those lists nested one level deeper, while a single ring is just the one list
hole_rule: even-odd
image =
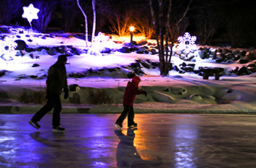
[{"label": "red jacket worn by the skating child", "polygon": [[136,94],[145,93],[144,91],[139,91],[138,88],[138,85],[136,85],[135,83],[132,83],[130,81],[127,83],[127,88],[125,88],[124,91],[123,105],[133,106]]}]

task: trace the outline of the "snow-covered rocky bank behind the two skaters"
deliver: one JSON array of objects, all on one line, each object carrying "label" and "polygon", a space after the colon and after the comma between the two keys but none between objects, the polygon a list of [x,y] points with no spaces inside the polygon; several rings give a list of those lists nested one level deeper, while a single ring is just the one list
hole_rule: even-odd
[{"label": "snow-covered rocky bank behind the two skaters", "polygon": [[[210,76],[208,80],[194,72],[177,72],[171,70],[168,76],[162,77],[158,67],[153,66],[152,62],[157,63],[159,57],[157,54],[136,52],[121,53],[117,51],[121,47],[129,47],[130,37],[115,37],[107,42],[94,43],[93,47],[86,47],[86,42],[71,34],[39,34],[28,32],[23,28],[7,27],[10,33],[0,34],[1,37],[10,37],[8,40],[15,41],[22,39],[26,42],[27,49],[13,50],[13,53],[5,53],[0,58],[0,102],[17,102],[23,89],[32,91],[43,91],[45,89],[45,80],[48,74],[48,68],[54,64],[61,53],[51,50],[53,47],[64,47],[70,53],[78,52],[80,55],[71,54],[68,57],[66,65],[68,84],[78,84],[80,89],[69,91],[69,99],[61,101],[64,104],[89,104],[89,97],[96,93],[97,89],[103,88],[107,92],[113,104],[121,104],[124,88],[134,72],[131,64],[136,60],[147,63],[150,67],[146,68],[139,64],[141,78],[140,87],[148,92],[148,96],[138,95],[135,103],[140,104],[144,109],[178,109],[180,107],[191,107],[195,110],[197,106],[207,105],[206,110],[211,105],[218,104],[218,108],[233,104],[239,108],[255,109],[255,75],[235,75],[231,73],[236,67],[245,64],[239,61],[226,61],[217,63],[214,59],[202,59],[197,51],[194,53],[193,61],[184,61],[179,56],[172,57],[173,65],[179,69],[181,64],[195,64],[194,69],[200,66],[222,67],[224,74],[219,80],[214,80]],[[22,31],[23,33],[20,33]],[[5,38],[7,39],[7,38]],[[141,36],[134,36],[133,40],[140,42],[144,39]],[[147,40],[149,49],[156,47],[154,40]],[[89,46],[91,42],[89,42]],[[1,52],[6,52],[4,47],[6,43],[2,42]],[[49,49],[50,47],[50,49]],[[103,47],[108,47],[110,53],[99,53]],[[143,47],[135,45],[134,47]],[[75,48],[75,50],[73,50]],[[199,48],[199,46],[198,46]],[[31,49],[31,50],[29,50]],[[211,49],[211,50],[217,50]],[[239,49],[240,50],[240,49]],[[176,50],[176,52],[178,52]],[[23,56],[15,56],[20,53]],[[254,64],[250,61],[248,64]],[[137,61],[138,65],[138,61]],[[241,105],[242,104],[242,105]],[[241,107],[242,106],[242,107]],[[138,107],[139,108],[139,107]],[[214,108],[214,107],[213,107]]]}]

